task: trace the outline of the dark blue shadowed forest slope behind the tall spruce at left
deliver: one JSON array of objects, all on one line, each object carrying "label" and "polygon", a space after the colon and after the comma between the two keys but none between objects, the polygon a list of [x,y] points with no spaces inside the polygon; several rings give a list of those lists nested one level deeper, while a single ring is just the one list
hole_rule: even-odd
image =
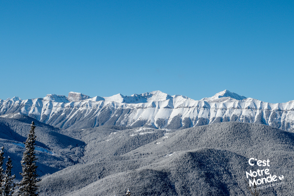
[{"label": "dark blue shadowed forest slope behind the tall spruce at left", "polygon": [[26,140],[31,120],[36,125],[36,156],[38,158],[38,174],[52,174],[58,170],[78,163],[83,156],[85,143],[69,136],[57,133],[50,125],[44,125],[36,119],[25,117],[23,120],[0,117],[0,146],[4,146],[4,156],[11,157],[13,161],[12,172],[20,179],[20,161],[24,152],[23,142]]}]

